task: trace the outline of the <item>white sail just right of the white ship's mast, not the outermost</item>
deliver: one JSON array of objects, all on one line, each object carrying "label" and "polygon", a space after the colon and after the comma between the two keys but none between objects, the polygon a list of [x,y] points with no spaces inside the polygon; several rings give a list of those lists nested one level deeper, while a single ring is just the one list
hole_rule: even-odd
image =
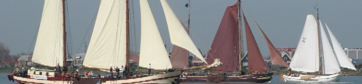
[{"label": "white sail just right of the white ship's mast, not the outermost", "polygon": [[[322,24],[319,20],[319,24]],[[320,25],[320,35],[322,38],[322,47],[323,47],[323,64],[324,64],[324,73],[323,74],[335,74],[341,71],[336,56],[332,50],[331,44],[328,41],[327,35],[324,32],[324,28]]]}]

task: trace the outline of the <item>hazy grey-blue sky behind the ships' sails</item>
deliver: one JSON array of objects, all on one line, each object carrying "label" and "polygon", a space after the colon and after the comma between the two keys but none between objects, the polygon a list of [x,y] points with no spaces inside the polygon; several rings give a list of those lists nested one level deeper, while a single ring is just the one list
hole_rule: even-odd
[{"label": "hazy grey-blue sky behind the ships' sails", "polygon": [[[74,53],[84,53],[84,42],[90,41],[94,16],[101,0],[68,0],[68,21],[72,32]],[[136,42],[139,47],[139,1],[131,0],[134,11]],[[181,22],[187,23],[187,0],[168,0]],[[237,0],[191,0],[190,37],[203,54],[207,53],[228,5]],[[263,56],[269,50],[253,19],[260,25],[276,48],[296,47],[307,14],[326,23],[344,48],[362,48],[362,0],[241,0],[242,9]],[[159,0],[149,0],[153,15],[167,50],[172,44],[164,12]],[[10,55],[33,52],[44,0],[1,0],[0,42],[10,49]],[[84,41],[83,41],[84,38]],[[246,50],[246,42],[243,42]],[[79,50],[78,50],[79,48]],[[139,50],[139,49],[138,49]],[[137,51],[136,51],[137,52]]]}]

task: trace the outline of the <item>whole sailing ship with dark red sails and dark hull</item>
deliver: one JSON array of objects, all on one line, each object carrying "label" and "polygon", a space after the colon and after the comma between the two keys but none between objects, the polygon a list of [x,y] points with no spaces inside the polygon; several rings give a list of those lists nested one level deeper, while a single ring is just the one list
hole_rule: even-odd
[{"label": "whole sailing ship with dark red sails and dark hull", "polygon": [[[270,81],[273,73],[269,73],[261,56],[260,50],[255,42],[253,34],[250,30],[248,22],[243,14],[243,21],[246,32],[247,40],[247,55],[248,56],[248,71],[258,72],[259,74],[243,75],[241,71],[241,23],[238,23],[238,11],[240,9],[240,0],[228,6],[225,10],[223,19],[220,23],[219,29],[215,35],[214,41],[207,54],[206,61],[209,63],[214,62],[213,59],[220,59],[223,63],[222,66],[211,68],[214,71],[221,71],[224,73],[208,73],[205,75],[192,75],[192,73],[183,74],[181,76],[181,83],[200,83],[200,82],[216,82],[216,83],[265,83]],[[239,14],[241,12],[239,11]],[[239,18],[239,19],[238,19]],[[255,22],[256,23],[256,22]],[[272,56],[272,64],[282,65],[289,67],[281,56],[276,51],[274,45],[269,41],[264,32],[257,25],[262,32],[265,41],[269,45],[269,50]],[[246,55],[246,54],[245,54]],[[239,60],[240,59],[240,60]],[[238,71],[237,74],[226,75],[227,72]],[[260,74],[260,72],[265,72]]]}]

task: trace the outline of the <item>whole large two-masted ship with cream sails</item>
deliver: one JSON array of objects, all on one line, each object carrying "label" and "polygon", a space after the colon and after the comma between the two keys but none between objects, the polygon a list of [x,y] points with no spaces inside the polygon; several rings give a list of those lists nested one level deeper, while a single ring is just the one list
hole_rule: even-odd
[{"label": "whole large two-masted ship with cream sails", "polygon": [[[173,13],[171,7],[166,0],[161,0],[165,8],[165,16],[169,27],[180,26],[178,19]],[[63,4],[63,5],[61,5]],[[53,7],[54,6],[54,7]],[[60,9],[59,9],[60,8]],[[64,17],[64,0],[45,0],[43,18],[39,28],[38,40],[35,46],[34,56],[32,61],[45,65],[55,67],[57,63],[65,65],[65,41],[60,41],[60,36],[63,34],[53,34],[52,31],[58,31],[65,27],[62,20]],[[82,68],[91,68],[99,70],[109,70],[112,66],[129,66],[129,13],[128,13],[128,0],[102,0],[97,19],[95,22],[94,30],[91,36],[91,41],[85,56]],[[171,68],[171,61],[168,57],[166,48],[157,29],[156,22],[153,18],[151,8],[148,0],[140,0],[141,10],[141,47],[140,47],[140,67],[148,67],[152,64],[152,69],[162,70],[162,73],[147,75],[132,75],[127,79],[112,79],[107,77],[94,78],[84,77],[79,78],[77,81],[72,81],[70,78],[63,75],[58,76],[52,70],[28,70],[27,77],[19,77],[12,75],[12,78],[19,83],[32,83],[32,84],[144,84],[144,83],[161,83],[171,84],[177,83],[176,79],[181,74],[181,71],[175,71]],[[62,11],[62,12],[61,12]],[[63,14],[63,16],[61,16]],[[175,19],[176,18],[176,19]],[[59,21],[60,20],[60,21]],[[52,23],[53,22],[53,23]],[[62,25],[63,24],[63,25]],[[176,26],[175,26],[176,25]],[[53,28],[53,26],[56,26]],[[63,30],[65,30],[63,28]],[[190,52],[200,55],[197,48],[189,39],[187,34],[181,32],[178,28],[170,28],[171,42]],[[184,31],[184,30],[183,30]],[[186,36],[180,37],[183,34]],[[50,35],[56,35],[54,38]],[[48,39],[52,39],[51,41]],[[56,40],[53,40],[56,39]],[[63,37],[65,39],[65,37]],[[186,39],[186,40],[185,40]],[[47,42],[48,41],[48,42]],[[186,44],[188,43],[188,44]],[[190,45],[190,43],[193,44]],[[55,47],[49,47],[57,45]],[[59,46],[58,46],[59,45]],[[64,47],[61,47],[64,45]],[[40,52],[42,54],[40,54]],[[43,54],[45,53],[45,54]],[[64,55],[64,58],[62,57]],[[54,57],[49,57],[54,56]],[[49,60],[64,60],[49,61]],[[206,61],[205,61],[206,62]],[[129,67],[127,67],[129,69]],[[113,70],[115,71],[115,70]],[[129,70],[127,71],[129,72]],[[57,76],[56,76],[57,75]]]}]

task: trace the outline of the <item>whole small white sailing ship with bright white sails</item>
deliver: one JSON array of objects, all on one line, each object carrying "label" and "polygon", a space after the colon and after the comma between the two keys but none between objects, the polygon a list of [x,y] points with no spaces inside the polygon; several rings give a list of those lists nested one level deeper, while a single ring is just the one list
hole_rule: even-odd
[{"label": "whole small white sailing ship with bright white sails", "polygon": [[[356,70],[328,26],[326,25],[333,49],[323,26],[319,24],[320,20],[316,20],[311,14],[307,15],[301,39],[290,64],[292,71],[312,75],[283,75],[286,82],[338,82],[340,67]],[[322,39],[323,55],[320,55],[318,30]]]}]

